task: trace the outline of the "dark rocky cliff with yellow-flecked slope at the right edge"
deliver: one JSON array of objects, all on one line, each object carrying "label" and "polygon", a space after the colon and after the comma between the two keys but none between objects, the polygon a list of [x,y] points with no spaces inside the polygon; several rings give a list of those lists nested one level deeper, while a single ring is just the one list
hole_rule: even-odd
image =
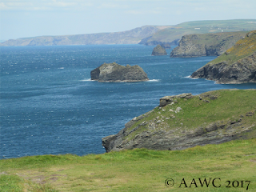
[{"label": "dark rocky cliff with yellow-flecked slope at the right edge", "polygon": [[206,78],[223,84],[256,82],[256,30],[196,70],[191,78]]}]

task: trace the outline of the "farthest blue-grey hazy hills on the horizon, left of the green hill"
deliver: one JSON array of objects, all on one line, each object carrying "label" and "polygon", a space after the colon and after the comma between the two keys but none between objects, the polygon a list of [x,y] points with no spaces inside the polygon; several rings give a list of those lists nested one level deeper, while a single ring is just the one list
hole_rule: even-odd
[{"label": "farthest blue-grey hazy hills on the horizon, left of the green hill", "polygon": [[63,45],[100,45],[100,44],[138,44],[158,30],[168,26],[142,26],[133,30],[115,33],[74,34],[62,36],[41,36],[34,38],[10,39],[0,46],[63,46]]}]

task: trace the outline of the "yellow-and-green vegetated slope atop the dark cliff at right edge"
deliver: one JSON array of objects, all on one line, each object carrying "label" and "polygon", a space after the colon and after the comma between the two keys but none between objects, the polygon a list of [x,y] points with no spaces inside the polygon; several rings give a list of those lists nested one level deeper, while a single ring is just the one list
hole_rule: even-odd
[{"label": "yellow-and-green vegetated slope atop the dark cliff at right edge", "polygon": [[226,50],[225,54],[222,54],[218,58],[215,58],[213,61],[209,62],[210,65],[214,65],[219,62],[227,62],[232,64],[239,59],[246,58],[250,54],[253,54],[256,51],[256,30],[251,31],[249,37],[240,39],[234,46],[229,50]]}]

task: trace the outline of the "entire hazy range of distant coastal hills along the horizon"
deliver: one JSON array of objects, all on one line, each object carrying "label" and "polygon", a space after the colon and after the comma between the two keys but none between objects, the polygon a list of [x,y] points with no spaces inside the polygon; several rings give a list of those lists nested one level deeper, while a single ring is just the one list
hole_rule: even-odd
[{"label": "entire hazy range of distant coastal hills along the horizon", "polygon": [[178,45],[186,34],[256,30],[256,19],[183,22],[176,26],[142,26],[114,33],[74,34],[10,39],[0,46],[61,46],[99,44]]}]

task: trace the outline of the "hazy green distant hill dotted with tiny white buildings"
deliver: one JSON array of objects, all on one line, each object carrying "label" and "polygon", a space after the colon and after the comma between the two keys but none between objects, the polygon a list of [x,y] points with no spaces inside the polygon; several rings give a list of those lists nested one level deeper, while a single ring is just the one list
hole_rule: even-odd
[{"label": "hazy green distant hill dotted with tiny white buildings", "polygon": [[[172,28],[158,31],[149,41],[172,42],[185,34],[219,33],[222,30],[224,32],[255,30],[256,23],[248,22],[256,22],[256,19],[183,22]],[[194,28],[200,28],[200,30],[194,30]]]}]

